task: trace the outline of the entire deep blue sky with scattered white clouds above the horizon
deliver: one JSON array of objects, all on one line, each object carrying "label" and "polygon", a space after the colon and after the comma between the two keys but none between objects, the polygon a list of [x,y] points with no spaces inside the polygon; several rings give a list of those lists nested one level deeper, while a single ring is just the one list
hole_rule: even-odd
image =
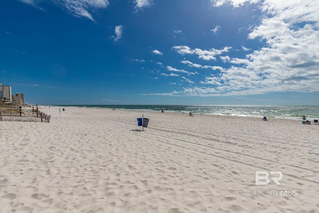
[{"label": "entire deep blue sky with scattered white clouds above the horizon", "polygon": [[319,1],[1,0],[31,104],[319,105]]}]

